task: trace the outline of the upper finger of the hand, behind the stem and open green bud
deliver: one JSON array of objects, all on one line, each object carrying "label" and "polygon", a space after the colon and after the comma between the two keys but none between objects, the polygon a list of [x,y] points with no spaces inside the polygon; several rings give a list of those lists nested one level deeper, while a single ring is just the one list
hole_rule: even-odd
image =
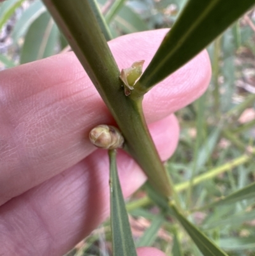
[{"label": "upper finger of the hand, behind the stem and open green bud", "polygon": [[[120,68],[134,59],[149,63],[165,33],[131,34],[111,41],[110,48]],[[168,116],[176,110],[173,105],[187,105],[205,90],[210,77],[207,54],[200,54],[173,77],[164,81],[164,89],[155,88],[145,98],[149,123]],[[113,119],[73,53],[4,70],[0,79],[3,204],[92,153],[95,147],[89,142],[89,130]]]}]

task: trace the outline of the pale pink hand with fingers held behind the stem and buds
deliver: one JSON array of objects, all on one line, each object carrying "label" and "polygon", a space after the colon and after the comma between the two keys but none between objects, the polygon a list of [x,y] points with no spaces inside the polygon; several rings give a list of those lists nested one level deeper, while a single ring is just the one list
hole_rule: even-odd
[{"label": "pale pink hand with fingers held behind the stem and buds", "polygon": [[[110,41],[119,68],[145,60],[165,29]],[[143,102],[161,159],[179,139],[173,112],[203,94],[210,81],[202,52],[154,87]],[[108,156],[89,141],[89,130],[114,124],[73,52],[0,72],[0,255],[61,256],[109,216]],[[120,183],[128,197],[146,180],[122,151]],[[139,256],[163,256],[138,248]]]}]

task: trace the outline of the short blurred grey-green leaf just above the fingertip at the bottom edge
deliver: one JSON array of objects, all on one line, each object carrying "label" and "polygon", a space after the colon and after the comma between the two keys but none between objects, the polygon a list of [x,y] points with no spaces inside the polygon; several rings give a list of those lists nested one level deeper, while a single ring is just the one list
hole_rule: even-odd
[{"label": "short blurred grey-green leaf just above the fingertip at the bottom edge", "polygon": [[145,230],[143,236],[140,237],[139,241],[136,243],[137,247],[141,246],[151,246],[157,238],[157,232],[159,231],[161,225],[164,222],[164,216],[159,214],[154,216],[150,227]]}]

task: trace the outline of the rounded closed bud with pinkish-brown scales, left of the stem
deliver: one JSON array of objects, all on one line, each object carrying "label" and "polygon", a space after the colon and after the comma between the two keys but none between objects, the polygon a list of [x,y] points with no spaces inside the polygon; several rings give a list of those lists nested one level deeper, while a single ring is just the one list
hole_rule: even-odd
[{"label": "rounded closed bud with pinkish-brown scales, left of the stem", "polygon": [[103,149],[116,149],[122,147],[124,138],[114,126],[100,124],[89,133],[89,139],[96,147]]}]

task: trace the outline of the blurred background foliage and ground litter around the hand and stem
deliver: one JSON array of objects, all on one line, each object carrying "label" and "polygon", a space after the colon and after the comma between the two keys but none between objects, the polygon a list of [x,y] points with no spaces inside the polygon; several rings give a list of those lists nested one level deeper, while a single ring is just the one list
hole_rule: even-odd
[{"label": "blurred background foliage and ground litter around the hand and stem", "polygon": [[[116,1],[117,6],[111,5],[114,1],[98,2],[115,38],[171,27],[186,1],[129,0]],[[0,29],[1,69],[70,50],[39,0],[1,3]],[[189,220],[229,255],[251,256],[255,255],[255,11],[217,38],[208,52],[213,67],[210,87],[177,112],[180,143],[166,167]],[[128,202],[136,245],[156,246],[167,255],[201,255],[179,225],[159,214],[146,188]],[[237,194],[226,197],[231,193]],[[222,198],[223,203],[215,203]],[[68,255],[109,255],[108,241],[110,223],[105,222]]]}]

